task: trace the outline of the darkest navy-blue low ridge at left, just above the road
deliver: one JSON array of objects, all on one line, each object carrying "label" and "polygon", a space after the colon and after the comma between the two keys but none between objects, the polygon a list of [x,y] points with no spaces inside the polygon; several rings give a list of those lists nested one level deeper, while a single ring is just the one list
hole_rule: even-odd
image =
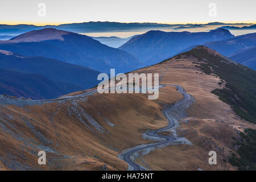
[{"label": "darkest navy-blue low ridge at left, just above the road", "polygon": [[0,68],[0,94],[39,100],[57,98],[81,89],[75,84],[52,81],[37,73],[16,72]]}]

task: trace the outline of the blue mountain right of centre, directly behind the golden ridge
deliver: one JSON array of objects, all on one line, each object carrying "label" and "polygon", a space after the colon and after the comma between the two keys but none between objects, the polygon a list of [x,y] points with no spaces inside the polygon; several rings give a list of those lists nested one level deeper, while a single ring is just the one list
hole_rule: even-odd
[{"label": "blue mountain right of centre, directly behind the golden ridge", "polygon": [[212,40],[224,40],[233,36],[228,30],[222,28],[209,32],[148,31],[119,48],[133,54],[144,64],[151,65],[176,55],[188,46]]}]

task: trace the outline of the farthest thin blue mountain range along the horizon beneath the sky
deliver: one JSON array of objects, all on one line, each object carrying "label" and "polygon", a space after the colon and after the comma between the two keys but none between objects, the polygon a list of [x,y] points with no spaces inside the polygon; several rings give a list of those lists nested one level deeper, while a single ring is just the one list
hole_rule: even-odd
[{"label": "farthest thin blue mountain range along the horizon beneath the sky", "polygon": [[[119,22],[84,22],[84,23],[68,23],[60,25],[35,26],[32,24],[8,25],[0,24],[0,35],[19,35],[32,30],[40,30],[43,28],[57,28],[72,32],[111,32],[111,31],[127,31],[138,29],[153,29],[176,26],[210,26],[210,25],[230,25],[232,23],[212,22],[207,24],[160,24],[160,23],[119,23]],[[246,23],[233,23],[246,24]]]}]

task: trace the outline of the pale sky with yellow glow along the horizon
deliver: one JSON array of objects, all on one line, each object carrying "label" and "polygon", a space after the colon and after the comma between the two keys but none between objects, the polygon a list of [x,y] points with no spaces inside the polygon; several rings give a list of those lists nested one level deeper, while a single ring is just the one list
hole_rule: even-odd
[{"label": "pale sky with yellow glow along the horizon", "polygon": [[0,24],[256,23],[256,0],[0,0]]}]

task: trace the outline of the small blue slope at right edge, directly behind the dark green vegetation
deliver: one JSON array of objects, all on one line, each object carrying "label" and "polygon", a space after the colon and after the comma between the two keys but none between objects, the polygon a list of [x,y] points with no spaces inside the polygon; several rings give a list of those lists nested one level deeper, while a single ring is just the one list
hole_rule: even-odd
[{"label": "small blue slope at right edge, directly behind the dark green vegetation", "polygon": [[256,46],[242,48],[232,53],[230,59],[256,70]]}]

